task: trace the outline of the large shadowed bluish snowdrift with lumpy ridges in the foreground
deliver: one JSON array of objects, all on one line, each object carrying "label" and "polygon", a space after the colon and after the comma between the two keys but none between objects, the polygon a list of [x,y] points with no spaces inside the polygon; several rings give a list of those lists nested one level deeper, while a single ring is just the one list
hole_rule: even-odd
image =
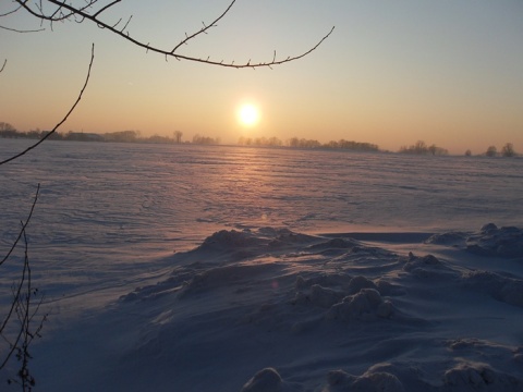
[{"label": "large shadowed bluish snowdrift with lumpy ridges in the foreground", "polygon": [[230,230],[169,262],[41,343],[41,390],[523,390],[519,229]]}]

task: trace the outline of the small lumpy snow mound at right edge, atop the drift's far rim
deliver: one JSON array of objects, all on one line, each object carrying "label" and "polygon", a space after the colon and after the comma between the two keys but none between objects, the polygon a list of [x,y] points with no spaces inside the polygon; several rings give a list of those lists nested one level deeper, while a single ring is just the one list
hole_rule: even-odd
[{"label": "small lumpy snow mound at right edge, atop the drift's far rim", "polygon": [[485,224],[479,233],[466,238],[466,249],[483,256],[523,257],[523,230]]}]

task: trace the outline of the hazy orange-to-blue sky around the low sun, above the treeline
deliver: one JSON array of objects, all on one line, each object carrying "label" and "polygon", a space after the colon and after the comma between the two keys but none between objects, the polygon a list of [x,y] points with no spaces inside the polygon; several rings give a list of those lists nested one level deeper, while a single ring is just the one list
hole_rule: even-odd
[{"label": "hazy orange-to-blue sky around the low sun, above the treeline", "polygon": [[[81,2],[83,3],[83,2]],[[227,0],[122,1],[106,21],[126,20],[132,37],[172,49],[210,23]],[[12,9],[0,3],[0,12]],[[417,140],[451,154],[512,143],[523,152],[523,1],[238,0],[180,54],[235,63],[300,54],[271,69],[233,70],[146,53],[89,22],[39,33],[0,28],[0,121],[19,131],[52,128],[89,84],[60,132],[125,130],[234,144],[243,137],[377,144]],[[19,12],[0,26],[38,28]],[[238,120],[242,103],[259,121]]]}]

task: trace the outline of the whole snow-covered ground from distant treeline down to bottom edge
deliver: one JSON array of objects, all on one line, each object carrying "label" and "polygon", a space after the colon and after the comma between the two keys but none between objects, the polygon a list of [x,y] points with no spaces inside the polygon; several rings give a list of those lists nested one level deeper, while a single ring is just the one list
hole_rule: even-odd
[{"label": "whole snow-covered ground from distant treeline down to bottom edge", "polygon": [[46,143],[0,167],[2,257],[41,184],[35,390],[522,391],[522,169]]}]

